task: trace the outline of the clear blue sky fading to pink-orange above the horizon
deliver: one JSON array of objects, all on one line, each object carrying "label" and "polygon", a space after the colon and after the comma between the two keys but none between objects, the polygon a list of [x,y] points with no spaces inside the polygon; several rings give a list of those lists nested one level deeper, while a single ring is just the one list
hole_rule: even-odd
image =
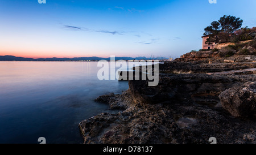
[{"label": "clear blue sky fading to pink-orange above the horizon", "polygon": [[0,55],[172,57],[224,15],[256,27],[255,0],[0,0]]}]

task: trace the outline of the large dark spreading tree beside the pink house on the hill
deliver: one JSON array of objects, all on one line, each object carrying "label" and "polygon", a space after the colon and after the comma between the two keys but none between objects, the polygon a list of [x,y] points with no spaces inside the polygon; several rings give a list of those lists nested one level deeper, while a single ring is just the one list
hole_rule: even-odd
[{"label": "large dark spreading tree beside the pink house on the hill", "polygon": [[241,28],[243,20],[240,18],[236,18],[236,16],[222,16],[220,20],[213,21],[210,26],[204,29],[204,36],[208,35],[207,44],[211,44],[211,42],[218,43],[222,40],[222,42],[228,42],[230,37],[234,34],[234,32]]}]

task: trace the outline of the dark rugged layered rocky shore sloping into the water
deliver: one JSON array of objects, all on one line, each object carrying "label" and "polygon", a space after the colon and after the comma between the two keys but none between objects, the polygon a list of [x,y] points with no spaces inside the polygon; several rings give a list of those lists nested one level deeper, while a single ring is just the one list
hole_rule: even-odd
[{"label": "dark rugged layered rocky shore sloping into the water", "polygon": [[187,53],[160,64],[156,87],[129,80],[122,94],[98,97],[120,112],[83,120],[84,143],[255,144],[256,56],[221,52]]}]

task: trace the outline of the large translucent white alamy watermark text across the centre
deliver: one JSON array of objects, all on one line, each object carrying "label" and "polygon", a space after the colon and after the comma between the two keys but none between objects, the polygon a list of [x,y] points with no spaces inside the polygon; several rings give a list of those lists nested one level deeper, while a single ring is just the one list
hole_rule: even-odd
[{"label": "large translucent white alamy watermark text across the centre", "polygon": [[99,61],[97,67],[101,67],[97,73],[99,80],[148,80],[148,86],[159,83],[159,61],[115,61],[111,56],[110,62]]}]

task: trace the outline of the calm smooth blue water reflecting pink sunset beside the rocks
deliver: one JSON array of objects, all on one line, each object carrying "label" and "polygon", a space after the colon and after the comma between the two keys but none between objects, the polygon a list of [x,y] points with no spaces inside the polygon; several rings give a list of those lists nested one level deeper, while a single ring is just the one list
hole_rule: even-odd
[{"label": "calm smooth blue water reflecting pink sunset beside the rocks", "polygon": [[0,143],[83,143],[78,124],[110,112],[94,102],[126,81],[100,81],[97,62],[0,62]]}]

